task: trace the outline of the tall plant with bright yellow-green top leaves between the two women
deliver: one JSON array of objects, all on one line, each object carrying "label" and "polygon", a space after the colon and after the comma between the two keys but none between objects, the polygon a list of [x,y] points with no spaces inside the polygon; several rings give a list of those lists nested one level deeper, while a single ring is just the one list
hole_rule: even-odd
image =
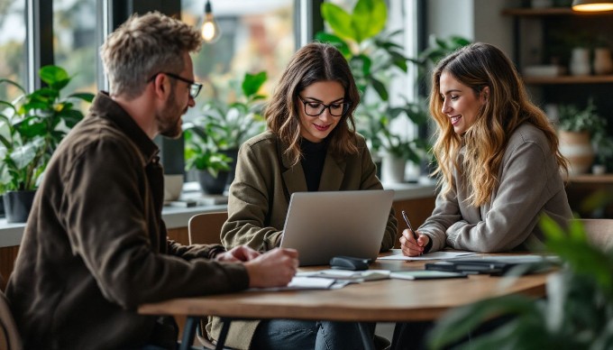
[{"label": "tall plant with bright yellow-green top leaves between the two women", "polygon": [[389,82],[395,74],[407,73],[408,63],[425,70],[429,61],[469,41],[457,37],[450,41],[436,39],[436,49],[433,47],[418,58],[410,59],[395,42],[401,31],[384,31],[388,20],[384,0],[358,0],[352,13],[325,2],[321,5],[321,13],[332,32],[317,32],[316,40],[329,42],[343,52],[361,91],[362,101],[356,110],[358,132],[369,141],[372,152],[387,151],[419,163],[425,154],[423,151],[429,148],[428,140],[405,136],[406,133],[392,130],[391,124],[399,117],[407,117],[416,125],[426,124],[425,99],[416,102],[405,99],[404,104],[392,106]]}]

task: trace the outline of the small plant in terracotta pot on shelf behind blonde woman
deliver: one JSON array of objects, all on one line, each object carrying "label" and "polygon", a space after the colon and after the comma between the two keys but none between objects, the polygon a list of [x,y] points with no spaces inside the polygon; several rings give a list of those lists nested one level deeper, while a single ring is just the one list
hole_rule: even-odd
[{"label": "small plant in terracotta pot on shelf behind blonde woman", "polygon": [[607,121],[596,112],[591,99],[583,109],[574,105],[558,106],[557,126],[560,152],[571,163],[571,175],[586,173],[590,169],[594,161],[592,141],[603,156],[607,154],[610,145]]}]

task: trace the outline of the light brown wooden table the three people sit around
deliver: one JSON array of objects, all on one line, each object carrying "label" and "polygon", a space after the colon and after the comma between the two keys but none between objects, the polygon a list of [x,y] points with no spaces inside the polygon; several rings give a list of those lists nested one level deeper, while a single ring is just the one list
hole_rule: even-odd
[{"label": "light brown wooden table the three people sit around", "polygon": [[[423,269],[424,262],[377,261],[371,269]],[[328,268],[327,266],[319,267]],[[311,268],[313,269],[313,268]],[[309,270],[309,269],[301,269]],[[182,345],[192,344],[197,319],[326,319],[333,321],[406,322],[440,318],[448,309],[505,294],[545,295],[546,274],[522,276],[502,288],[501,277],[432,281],[381,280],[350,284],[339,290],[242,291],[142,305],[146,315],[186,315]],[[229,322],[224,327],[229,327]],[[224,336],[220,336],[220,342]],[[218,344],[219,345],[219,344]]]}]

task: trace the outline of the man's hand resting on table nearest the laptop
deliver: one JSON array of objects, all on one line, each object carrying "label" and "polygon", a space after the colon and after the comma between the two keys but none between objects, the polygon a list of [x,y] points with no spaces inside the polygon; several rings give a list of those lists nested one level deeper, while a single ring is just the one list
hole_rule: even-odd
[{"label": "man's hand resting on table nearest the laptop", "polygon": [[298,252],[295,249],[275,248],[244,265],[249,273],[249,287],[283,287],[297,272]]}]

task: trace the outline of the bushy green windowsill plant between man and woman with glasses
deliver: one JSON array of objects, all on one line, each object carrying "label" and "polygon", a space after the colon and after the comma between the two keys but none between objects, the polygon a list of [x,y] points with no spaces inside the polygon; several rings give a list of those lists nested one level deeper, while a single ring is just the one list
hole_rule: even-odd
[{"label": "bushy green windowsill plant between man and woman with glasses", "polygon": [[[247,139],[264,130],[261,111],[266,97],[258,92],[266,79],[265,71],[257,74],[246,73],[236,100],[211,100],[203,106],[202,115],[184,124],[186,136],[197,134],[197,137],[186,137],[186,159],[200,160],[199,165],[188,160],[188,169],[196,168],[216,173],[224,168],[219,161],[227,162],[229,169],[225,188],[230,186],[234,180],[238,148]],[[220,153],[225,157],[220,157]],[[209,161],[204,161],[205,159],[210,160],[210,164]]]}]

